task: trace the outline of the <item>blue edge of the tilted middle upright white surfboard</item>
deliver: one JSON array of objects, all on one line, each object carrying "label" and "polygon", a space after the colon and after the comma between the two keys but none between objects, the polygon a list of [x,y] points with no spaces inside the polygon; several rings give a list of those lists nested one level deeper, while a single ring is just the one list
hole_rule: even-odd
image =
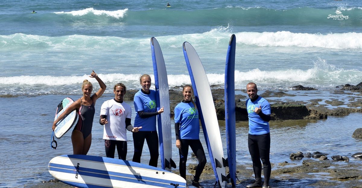
[{"label": "blue edge of the tilted middle upright white surfboard", "polygon": [[195,104],[196,104],[196,106],[197,106],[197,108],[199,110],[199,117],[200,117],[200,121],[201,121],[202,131],[203,131],[203,134],[204,134],[204,137],[205,137],[207,150],[209,151],[209,156],[210,156],[210,159],[211,159],[212,169],[214,170],[216,182],[220,182],[218,172],[216,171],[215,159],[214,159],[214,156],[212,155],[212,150],[211,150],[211,146],[210,146],[209,137],[207,136],[205,121],[204,121],[204,118],[203,118],[203,114],[202,114],[202,110],[201,110],[201,106],[200,106],[200,102],[199,102],[199,96],[198,96],[198,93],[197,93],[196,84],[195,84],[195,80],[194,80],[194,75],[193,75],[193,72],[192,72],[192,69],[191,69],[191,66],[190,66],[189,57],[187,55],[187,52],[186,52],[185,48],[182,48],[182,50],[184,52],[186,66],[187,66],[187,69],[189,71],[191,84],[192,84],[192,87],[193,87],[193,90],[194,90]]}]

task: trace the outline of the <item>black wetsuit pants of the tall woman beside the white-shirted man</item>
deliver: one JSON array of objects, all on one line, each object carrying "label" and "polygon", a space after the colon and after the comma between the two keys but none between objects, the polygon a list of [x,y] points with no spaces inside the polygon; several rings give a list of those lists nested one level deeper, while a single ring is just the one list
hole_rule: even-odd
[{"label": "black wetsuit pants of the tall woman beside the white-shirted man", "polygon": [[148,165],[157,167],[159,157],[157,131],[138,131],[134,132],[132,136],[135,147],[132,161],[141,163],[143,144],[146,139],[148,150],[150,150],[150,163],[148,163]]}]

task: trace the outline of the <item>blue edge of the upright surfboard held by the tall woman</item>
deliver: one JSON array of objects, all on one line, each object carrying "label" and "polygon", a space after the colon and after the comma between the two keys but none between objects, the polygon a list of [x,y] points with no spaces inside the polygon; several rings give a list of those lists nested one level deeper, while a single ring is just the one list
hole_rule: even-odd
[{"label": "blue edge of the upright surfboard held by the tall woman", "polygon": [[[153,62],[153,75],[155,77],[155,90],[156,90],[156,106],[157,110],[160,110],[160,90],[159,90],[159,80],[158,80],[158,72],[157,72],[157,64],[156,64],[156,54],[155,47],[152,44],[151,38],[151,54],[152,54],[152,62]],[[163,134],[162,134],[162,119],[161,115],[157,115],[157,126],[158,126],[158,134],[159,134],[159,145],[160,145],[160,156],[161,156],[161,169],[165,169],[165,156],[163,150]]]}]

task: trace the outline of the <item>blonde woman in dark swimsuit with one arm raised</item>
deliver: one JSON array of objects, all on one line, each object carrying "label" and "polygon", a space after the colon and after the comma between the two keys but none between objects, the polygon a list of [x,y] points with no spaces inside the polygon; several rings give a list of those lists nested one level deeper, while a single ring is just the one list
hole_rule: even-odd
[{"label": "blonde woman in dark swimsuit with one arm raised", "polygon": [[72,132],[73,154],[86,155],[88,153],[90,144],[92,143],[92,125],[95,112],[94,105],[96,104],[97,99],[102,96],[106,90],[106,85],[94,71],[90,73],[89,77],[95,78],[101,88],[91,96],[93,91],[92,83],[90,83],[88,80],[84,80],[82,84],[83,96],[73,102],[64,111],[63,114],[60,114],[52,126],[54,131],[56,123],[58,123],[73,110],[77,111],[79,115],[78,122]]}]

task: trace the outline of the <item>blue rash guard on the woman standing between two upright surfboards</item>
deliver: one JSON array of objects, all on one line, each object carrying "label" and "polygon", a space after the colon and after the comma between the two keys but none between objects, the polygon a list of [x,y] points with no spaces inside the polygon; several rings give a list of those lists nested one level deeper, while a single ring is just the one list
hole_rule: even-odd
[{"label": "blue rash guard on the woman standing between two upright surfboards", "polygon": [[180,139],[199,139],[199,113],[193,103],[180,102],[174,113],[175,123],[180,123]]}]

